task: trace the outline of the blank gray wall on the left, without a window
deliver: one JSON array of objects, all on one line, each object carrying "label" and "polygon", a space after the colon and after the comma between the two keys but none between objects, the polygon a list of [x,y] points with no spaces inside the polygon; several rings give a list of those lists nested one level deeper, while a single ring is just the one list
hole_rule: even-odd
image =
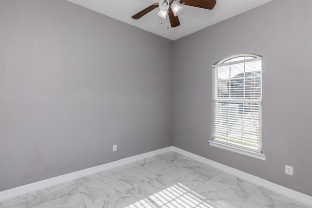
[{"label": "blank gray wall on the left, without a window", "polygon": [[0,191],[171,145],[171,40],[66,0],[0,11]]}]

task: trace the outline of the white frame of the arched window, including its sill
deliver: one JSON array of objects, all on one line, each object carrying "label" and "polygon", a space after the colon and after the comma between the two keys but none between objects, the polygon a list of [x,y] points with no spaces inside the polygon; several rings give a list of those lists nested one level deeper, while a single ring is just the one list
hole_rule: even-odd
[{"label": "white frame of the arched window, including its sill", "polygon": [[[215,73],[215,68],[216,67],[219,67],[219,66],[222,66],[223,64],[224,65],[233,65],[233,64],[238,64],[238,63],[246,63],[248,61],[246,61],[246,59],[244,60],[238,60],[238,61],[234,61],[234,62],[228,62],[228,63],[225,63],[233,58],[237,58],[237,57],[252,57],[251,59],[253,59],[252,61],[257,61],[257,60],[261,60],[261,80],[260,80],[260,102],[259,102],[259,114],[260,114],[260,118],[259,118],[259,132],[258,132],[258,135],[259,135],[259,140],[258,140],[258,143],[259,143],[259,148],[260,150],[256,150],[256,149],[252,149],[252,148],[246,148],[246,147],[241,147],[239,145],[234,145],[234,144],[231,144],[231,143],[228,143],[228,142],[222,142],[222,141],[218,141],[218,140],[213,140],[213,137],[214,137],[214,101],[215,101],[215,76],[216,76],[216,73]],[[223,66],[224,66],[223,65]],[[244,155],[248,155],[248,156],[251,156],[251,157],[255,157],[255,158],[258,158],[258,159],[262,159],[262,160],[265,160],[265,154],[262,152],[262,100],[263,100],[263,96],[262,96],[262,87],[263,87],[263,82],[262,82],[262,75],[263,75],[263,67],[262,67],[262,57],[261,56],[258,56],[258,55],[253,55],[253,54],[240,54],[240,55],[234,55],[234,56],[231,56],[231,57],[227,57],[227,58],[224,58],[220,61],[218,61],[217,63],[215,63],[213,65],[213,71],[212,71],[212,116],[211,116],[211,140],[209,140],[209,144],[211,146],[214,146],[214,147],[218,147],[218,148],[221,148],[221,149],[224,149],[224,150],[228,150],[228,151],[234,151],[234,152],[237,152],[237,153],[241,153],[241,154],[244,154]],[[237,99],[238,100],[238,99]]]}]

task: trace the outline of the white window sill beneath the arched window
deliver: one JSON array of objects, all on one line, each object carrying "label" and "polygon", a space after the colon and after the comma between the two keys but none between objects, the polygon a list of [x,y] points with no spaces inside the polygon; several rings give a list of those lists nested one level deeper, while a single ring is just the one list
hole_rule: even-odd
[{"label": "white window sill beneath the arched window", "polygon": [[258,153],[258,152],[254,152],[254,151],[249,151],[249,150],[245,150],[242,148],[238,148],[238,147],[233,147],[230,145],[226,145],[220,142],[216,142],[216,141],[208,141],[209,145],[213,146],[213,147],[217,147],[217,148],[221,148],[223,150],[228,150],[228,151],[234,151],[236,153],[240,153],[243,155],[247,155],[250,157],[254,157],[260,160],[265,160],[265,154],[263,153]]}]

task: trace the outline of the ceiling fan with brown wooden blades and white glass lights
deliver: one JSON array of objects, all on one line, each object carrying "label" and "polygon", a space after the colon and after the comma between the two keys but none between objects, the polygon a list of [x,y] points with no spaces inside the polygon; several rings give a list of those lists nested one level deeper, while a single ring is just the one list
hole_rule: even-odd
[{"label": "ceiling fan with brown wooden blades and white glass lights", "polygon": [[166,19],[168,14],[171,27],[177,27],[180,25],[180,21],[177,15],[183,9],[183,7],[179,6],[177,3],[203,9],[213,9],[215,7],[216,0],[160,0],[159,3],[154,3],[151,6],[146,7],[142,11],[132,16],[132,18],[140,19],[147,13],[159,7],[160,11],[158,12],[158,16]]}]

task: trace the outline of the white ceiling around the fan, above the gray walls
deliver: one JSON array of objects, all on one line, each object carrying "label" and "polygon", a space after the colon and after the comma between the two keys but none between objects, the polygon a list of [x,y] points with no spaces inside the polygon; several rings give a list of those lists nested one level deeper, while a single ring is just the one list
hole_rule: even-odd
[{"label": "white ceiling around the fan, above the gray walls", "polygon": [[[158,8],[140,19],[131,17],[142,9],[159,0],[68,0],[80,6],[97,11],[108,17],[131,24],[156,35],[176,40],[224,19],[231,18],[271,0],[216,0],[213,10],[181,5],[182,12],[178,15],[181,25],[170,27],[169,19],[157,16]],[[169,25],[169,29],[167,26]]]}]

